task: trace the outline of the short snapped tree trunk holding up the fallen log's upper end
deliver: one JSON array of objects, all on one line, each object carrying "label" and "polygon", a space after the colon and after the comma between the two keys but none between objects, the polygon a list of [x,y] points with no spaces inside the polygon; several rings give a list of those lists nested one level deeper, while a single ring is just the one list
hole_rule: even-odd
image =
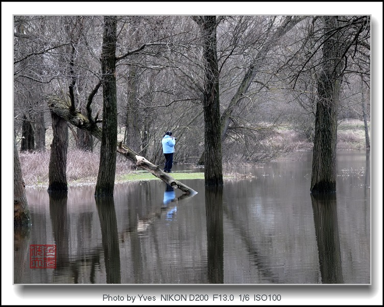
[{"label": "short snapped tree trunk holding up the fallen log's upper end", "polygon": [[64,119],[52,116],[53,140],[49,165],[48,191],[67,191],[67,150],[68,150],[68,125]]}]

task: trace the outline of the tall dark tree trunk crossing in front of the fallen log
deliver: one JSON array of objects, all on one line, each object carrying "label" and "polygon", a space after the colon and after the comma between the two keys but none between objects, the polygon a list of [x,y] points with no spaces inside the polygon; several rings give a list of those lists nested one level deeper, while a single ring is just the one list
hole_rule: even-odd
[{"label": "tall dark tree trunk crossing in front of the fallen log", "polygon": [[116,18],[104,17],[103,51],[103,134],[95,196],[113,196],[116,170],[117,94],[116,94]]}]

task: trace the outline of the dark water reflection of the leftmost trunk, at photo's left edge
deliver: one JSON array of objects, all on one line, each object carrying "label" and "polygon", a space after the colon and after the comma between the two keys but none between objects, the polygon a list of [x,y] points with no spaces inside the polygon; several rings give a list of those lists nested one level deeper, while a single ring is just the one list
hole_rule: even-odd
[{"label": "dark water reflection of the leftmost trunk, at photo's left edge", "polygon": [[31,226],[15,227],[13,229],[13,282],[23,283],[23,273],[29,266],[29,241]]}]

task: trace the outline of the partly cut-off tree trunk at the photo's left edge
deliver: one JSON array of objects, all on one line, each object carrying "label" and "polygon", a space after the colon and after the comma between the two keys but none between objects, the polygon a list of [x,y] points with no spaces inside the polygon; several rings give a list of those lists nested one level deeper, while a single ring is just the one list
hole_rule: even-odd
[{"label": "partly cut-off tree trunk at the photo's left edge", "polygon": [[14,227],[31,225],[26,186],[22,179],[20,159],[15,141],[13,142],[13,211]]}]

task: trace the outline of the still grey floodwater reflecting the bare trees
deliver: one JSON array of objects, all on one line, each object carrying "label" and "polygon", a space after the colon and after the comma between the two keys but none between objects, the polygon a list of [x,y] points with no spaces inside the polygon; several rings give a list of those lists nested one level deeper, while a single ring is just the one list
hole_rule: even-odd
[{"label": "still grey floodwater reflecting the bare trees", "polygon": [[[231,169],[256,178],[221,189],[185,180],[189,197],[160,180],[117,184],[113,198],[27,189],[33,225],[14,235],[14,283],[369,284],[369,155],[337,163],[328,198],[309,193],[311,153]],[[36,267],[35,245],[55,246],[56,268]]]}]

